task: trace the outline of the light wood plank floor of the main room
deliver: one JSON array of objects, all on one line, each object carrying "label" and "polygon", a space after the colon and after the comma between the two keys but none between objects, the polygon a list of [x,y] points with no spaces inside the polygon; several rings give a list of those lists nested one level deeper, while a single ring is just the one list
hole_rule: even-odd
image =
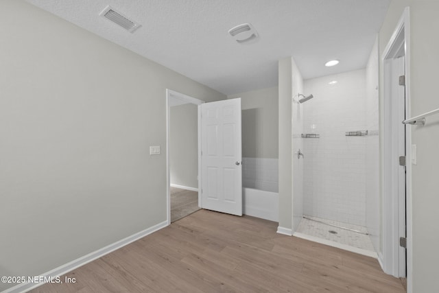
[{"label": "light wood plank floor of the main room", "polygon": [[276,228],[200,210],[32,292],[405,292],[376,259]]}]

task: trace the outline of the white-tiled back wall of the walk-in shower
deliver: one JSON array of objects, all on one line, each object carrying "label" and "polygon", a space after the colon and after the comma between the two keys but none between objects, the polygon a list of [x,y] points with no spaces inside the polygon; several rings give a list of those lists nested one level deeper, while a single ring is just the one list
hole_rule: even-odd
[{"label": "white-tiled back wall of the walk-in shower", "polygon": [[[336,82],[329,84],[330,82]],[[366,71],[305,80],[303,213],[366,226]]]}]

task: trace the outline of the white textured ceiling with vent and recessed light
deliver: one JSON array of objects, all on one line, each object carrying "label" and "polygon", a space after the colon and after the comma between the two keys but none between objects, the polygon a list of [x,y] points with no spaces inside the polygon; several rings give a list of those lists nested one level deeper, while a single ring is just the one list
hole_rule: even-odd
[{"label": "white textured ceiling with vent and recessed light", "polygon": [[[366,67],[390,0],[27,0],[225,94],[277,85],[293,56],[303,78]],[[110,5],[140,23],[134,34],[99,12]],[[255,42],[228,30],[251,23]],[[339,59],[340,65],[324,67]]]}]

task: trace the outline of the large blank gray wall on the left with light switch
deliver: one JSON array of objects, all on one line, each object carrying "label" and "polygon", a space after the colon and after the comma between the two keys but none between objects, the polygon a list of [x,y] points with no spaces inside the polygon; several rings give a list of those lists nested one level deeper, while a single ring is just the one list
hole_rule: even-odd
[{"label": "large blank gray wall on the left with light switch", "polygon": [[22,0],[0,1],[0,36],[0,275],[165,221],[165,89],[226,96]]}]

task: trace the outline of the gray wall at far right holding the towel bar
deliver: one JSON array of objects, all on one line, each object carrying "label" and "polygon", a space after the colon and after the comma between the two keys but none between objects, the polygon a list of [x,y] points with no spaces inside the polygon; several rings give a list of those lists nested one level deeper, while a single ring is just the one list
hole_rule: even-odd
[{"label": "gray wall at far right holding the towel bar", "polygon": [[[406,6],[410,6],[410,110],[416,116],[439,107],[439,1],[393,0],[379,33],[380,56]],[[428,117],[427,126],[410,127],[418,148],[418,163],[412,165],[412,292],[433,292],[439,263],[439,115]]]}]

